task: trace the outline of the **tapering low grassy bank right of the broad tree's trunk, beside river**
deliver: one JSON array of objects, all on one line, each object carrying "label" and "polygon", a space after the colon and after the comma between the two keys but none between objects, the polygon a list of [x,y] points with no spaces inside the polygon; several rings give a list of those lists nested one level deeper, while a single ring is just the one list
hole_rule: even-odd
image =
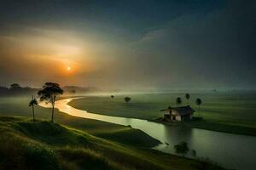
[{"label": "tapering low grassy bank right of the broad tree's trunk, beside river", "polygon": [[120,126],[113,123],[84,119],[67,114],[59,113],[55,116],[56,122],[68,127],[78,128],[86,133],[93,134],[103,139],[109,139],[119,144],[131,146],[153,147],[160,141],[153,139],[148,134],[131,127]]}]

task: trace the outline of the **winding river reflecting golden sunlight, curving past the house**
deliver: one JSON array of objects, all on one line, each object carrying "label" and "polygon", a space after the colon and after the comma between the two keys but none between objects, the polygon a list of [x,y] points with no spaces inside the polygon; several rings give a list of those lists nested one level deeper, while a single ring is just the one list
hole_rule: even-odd
[{"label": "winding river reflecting golden sunlight, curving past the house", "polygon": [[[74,98],[75,99],[75,98]],[[232,133],[220,133],[197,128],[171,127],[156,122],[141,119],[104,116],[75,109],[67,105],[72,99],[61,99],[55,102],[55,108],[71,116],[111,122],[119,125],[131,125],[133,128],[148,133],[162,144],[154,147],[174,154],[173,145],[186,141],[191,150],[196,150],[197,156],[209,157],[226,168],[238,170],[256,169],[256,137]],[[44,103],[40,104],[49,107]]]}]

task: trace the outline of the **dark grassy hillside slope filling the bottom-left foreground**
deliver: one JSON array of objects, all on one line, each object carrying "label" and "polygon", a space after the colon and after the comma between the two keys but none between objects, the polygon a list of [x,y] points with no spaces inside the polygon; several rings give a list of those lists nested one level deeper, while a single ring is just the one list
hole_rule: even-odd
[{"label": "dark grassy hillside slope filling the bottom-left foreground", "polygon": [[[1,169],[193,169],[203,162],[131,147],[80,129],[0,116]],[[207,163],[207,169],[221,169]]]}]

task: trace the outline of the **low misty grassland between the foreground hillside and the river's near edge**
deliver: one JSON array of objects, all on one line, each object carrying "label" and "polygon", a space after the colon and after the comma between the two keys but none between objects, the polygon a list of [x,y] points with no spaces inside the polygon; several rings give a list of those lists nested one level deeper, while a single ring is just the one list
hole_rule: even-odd
[{"label": "low misty grassland between the foreground hillside and the river's near edge", "polygon": [[[28,107],[29,100],[30,96],[0,98],[0,116],[32,117],[32,110]],[[36,119],[49,120],[51,111],[50,109],[36,106],[35,116]],[[158,140],[149,137],[148,134],[143,133],[138,129],[132,129],[131,127],[125,127],[108,122],[68,116],[58,110],[55,110],[55,122],[68,127],[78,128],[95,136],[111,139],[117,143],[143,145],[145,147],[153,147],[160,143]],[[127,135],[132,138],[127,138]],[[144,139],[148,139],[147,143]]]}]

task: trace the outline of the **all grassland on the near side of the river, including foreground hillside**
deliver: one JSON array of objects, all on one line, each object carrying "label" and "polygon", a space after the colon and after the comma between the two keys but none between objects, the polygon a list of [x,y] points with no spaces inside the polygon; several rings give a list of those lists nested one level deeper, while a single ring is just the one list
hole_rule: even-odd
[{"label": "all grassland on the near side of the river, including foreground hillside", "polygon": [[[58,123],[33,123],[28,100],[0,99],[1,169],[221,169],[151,150],[159,142],[131,127],[58,111]],[[49,120],[50,111],[36,107],[36,116]]]}]

